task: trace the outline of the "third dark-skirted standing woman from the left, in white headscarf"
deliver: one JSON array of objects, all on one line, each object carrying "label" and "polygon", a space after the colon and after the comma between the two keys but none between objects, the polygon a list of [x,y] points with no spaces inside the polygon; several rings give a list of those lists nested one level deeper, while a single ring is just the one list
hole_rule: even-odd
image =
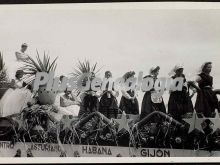
[{"label": "third dark-skirted standing woman from the left, in white headscarf", "polygon": [[[126,82],[129,78],[134,78],[135,72],[130,71],[125,73],[123,76],[124,82]],[[130,82],[129,86],[132,85]],[[125,111],[126,114],[138,115],[139,114],[139,105],[137,100],[137,92],[135,89],[130,89],[128,91],[121,90],[122,97],[119,105],[119,109],[121,110],[119,113],[121,114]]]}]

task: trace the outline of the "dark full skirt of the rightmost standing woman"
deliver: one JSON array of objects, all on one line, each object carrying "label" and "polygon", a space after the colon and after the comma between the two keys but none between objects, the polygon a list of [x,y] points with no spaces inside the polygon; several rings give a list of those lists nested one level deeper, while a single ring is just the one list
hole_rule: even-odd
[{"label": "dark full skirt of the rightmost standing woman", "polygon": [[211,117],[215,109],[218,109],[218,98],[211,88],[198,91],[195,109],[197,113],[203,113],[205,117]]}]

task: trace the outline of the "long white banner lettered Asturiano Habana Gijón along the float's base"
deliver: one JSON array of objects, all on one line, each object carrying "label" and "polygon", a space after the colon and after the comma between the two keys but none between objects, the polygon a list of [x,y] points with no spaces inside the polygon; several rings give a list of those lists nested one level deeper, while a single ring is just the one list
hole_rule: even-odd
[{"label": "long white banner lettered Asturiano Habana Gij\u00f3n along the float's base", "polygon": [[59,157],[63,148],[68,157],[78,153],[81,157],[210,157],[220,156],[220,151],[164,149],[164,148],[139,148],[116,147],[116,146],[93,146],[93,145],[71,145],[22,143],[15,145],[9,141],[0,141],[0,157],[14,157],[17,149],[21,149],[21,156],[26,157],[26,150],[30,148],[34,157]]}]

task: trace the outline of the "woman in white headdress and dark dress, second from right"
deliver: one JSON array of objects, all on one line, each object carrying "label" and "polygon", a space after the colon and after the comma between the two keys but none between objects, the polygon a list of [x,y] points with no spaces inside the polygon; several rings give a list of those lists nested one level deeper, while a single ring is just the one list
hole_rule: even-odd
[{"label": "woman in white headdress and dark dress, second from right", "polygon": [[[183,74],[183,66],[176,65],[172,71],[169,73],[172,79],[182,77],[183,85],[182,90],[170,91],[170,97],[168,101],[168,113],[176,120],[181,121],[182,116],[186,113],[193,112],[193,104],[191,97],[195,93],[195,88],[193,88],[193,95],[190,96],[189,89],[192,86],[192,82],[187,82],[185,75]],[[179,82],[177,82],[179,83]],[[175,84],[178,85],[178,84]],[[194,86],[195,87],[195,86]]]}]

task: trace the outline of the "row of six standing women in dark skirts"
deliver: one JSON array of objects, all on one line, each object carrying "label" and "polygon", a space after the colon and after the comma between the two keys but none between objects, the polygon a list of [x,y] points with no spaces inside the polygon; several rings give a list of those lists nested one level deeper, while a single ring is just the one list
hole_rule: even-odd
[{"label": "row of six standing women in dark skirts", "polygon": [[[150,70],[150,74],[144,78],[151,77],[154,82],[158,79],[160,67],[153,67]],[[184,84],[182,90],[170,91],[168,101],[168,111],[164,104],[162,96],[153,95],[156,90],[152,88],[150,91],[146,91],[142,100],[141,108],[139,107],[137,99],[137,91],[121,90],[121,99],[118,104],[117,97],[119,91],[108,90],[108,84],[106,90],[101,93],[92,91],[91,89],[85,91],[81,96],[80,110],[78,116],[90,114],[94,111],[99,111],[107,118],[117,118],[118,114],[123,111],[126,114],[139,115],[140,119],[143,119],[153,111],[161,111],[167,113],[174,119],[181,121],[183,116],[187,113],[192,113],[194,109],[197,113],[202,114],[204,117],[212,117],[215,109],[219,109],[217,94],[219,90],[213,90],[213,77],[210,75],[212,70],[212,63],[206,62],[201,67],[201,72],[198,74],[195,81],[187,81],[183,73],[184,68],[182,66],[175,66],[173,69],[173,75],[171,78],[182,77]],[[129,78],[134,77],[135,72],[127,72],[123,78],[126,81]],[[94,79],[95,74],[91,73],[90,79]],[[105,72],[105,78],[112,78],[110,71]],[[131,85],[131,84],[130,84]],[[191,92],[192,91],[192,92]],[[192,97],[197,93],[195,106],[192,103]]]}]

